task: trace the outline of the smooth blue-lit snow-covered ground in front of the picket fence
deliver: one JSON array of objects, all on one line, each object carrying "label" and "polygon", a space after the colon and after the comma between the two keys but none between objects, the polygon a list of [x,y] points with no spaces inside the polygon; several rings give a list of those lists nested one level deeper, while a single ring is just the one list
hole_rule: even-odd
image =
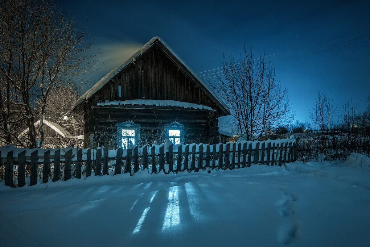
[{"label": "smooth blue-lit snow-covered ground in front of the picket fence", "polygon": [[358,157],[21,188],[1,182],[0,244],[369,246],[370,170],[356,166]]}]

